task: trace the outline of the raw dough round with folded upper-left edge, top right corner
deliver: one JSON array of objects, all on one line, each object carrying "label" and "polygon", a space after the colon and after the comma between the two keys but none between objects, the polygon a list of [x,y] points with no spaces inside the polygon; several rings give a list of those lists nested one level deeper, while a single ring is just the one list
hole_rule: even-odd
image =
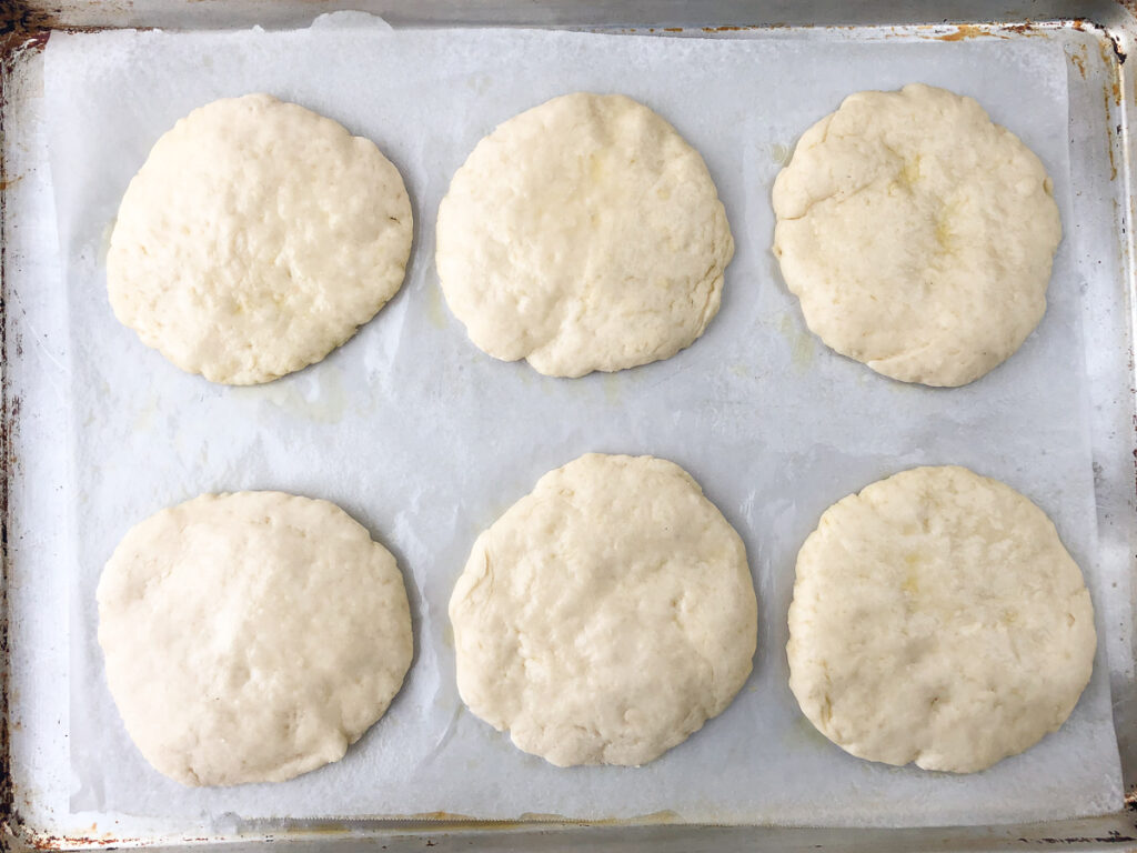
[{"label": "raw dough round with folded upper-left edge, top right corner", "polygon": [[805,322],[886,376],[971,382],[1046,310],[1062,238],[1051,180],[971,98],[920,84],[849,96],[802,136],[773,204]]}]

